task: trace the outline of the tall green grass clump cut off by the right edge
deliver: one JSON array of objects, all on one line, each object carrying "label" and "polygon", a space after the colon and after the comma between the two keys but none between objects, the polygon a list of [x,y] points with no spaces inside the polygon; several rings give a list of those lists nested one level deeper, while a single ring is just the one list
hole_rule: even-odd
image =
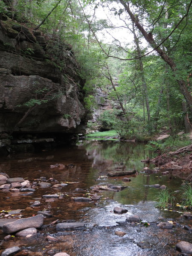
[{"label": "tall green grass clump cut off by the right edge", "polygon": [[186,209],[192,209],[192,184],[187,182],[180,187],[181,192],[181,207]]}]

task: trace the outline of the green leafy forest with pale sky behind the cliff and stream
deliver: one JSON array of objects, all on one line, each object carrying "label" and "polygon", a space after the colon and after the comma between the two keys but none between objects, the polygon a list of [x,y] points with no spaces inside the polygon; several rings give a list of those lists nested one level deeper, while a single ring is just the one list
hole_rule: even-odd
[{"label": "green leafy forest with pale sky behind the cliff and stream", "polygon": [[58,40],[55,51],[62,41],[70,44],[86,80],[86,107],[96,108],[101,87],[120,105],[106,110],[101,122],[121,137],[145,140],[162,130],[173,136],[192,131],[191,5],[189,0],[1,0],[0,13]]}]

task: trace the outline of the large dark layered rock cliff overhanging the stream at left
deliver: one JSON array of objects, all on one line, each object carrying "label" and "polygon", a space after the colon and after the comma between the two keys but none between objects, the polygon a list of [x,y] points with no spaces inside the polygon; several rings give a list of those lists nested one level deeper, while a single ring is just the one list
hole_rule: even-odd
[{"label": "large dark layered rock cliff overhanging the stream at left", "polygon": [[0,20],[0,145],[84,133],[79,66],[72,48],[5,15]]}]

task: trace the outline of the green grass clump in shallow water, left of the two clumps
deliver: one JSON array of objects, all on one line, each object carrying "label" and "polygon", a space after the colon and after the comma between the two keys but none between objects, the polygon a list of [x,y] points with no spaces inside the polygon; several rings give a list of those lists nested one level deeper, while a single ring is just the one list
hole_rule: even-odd
[{"label": "green grass clump in shallow water, left of the two clumps", "polygon": [[163,189],[159,192],[155,200],[157,201],[157,207],[165,209],[173,206],[175,196],[173,196],[169,189]]}]

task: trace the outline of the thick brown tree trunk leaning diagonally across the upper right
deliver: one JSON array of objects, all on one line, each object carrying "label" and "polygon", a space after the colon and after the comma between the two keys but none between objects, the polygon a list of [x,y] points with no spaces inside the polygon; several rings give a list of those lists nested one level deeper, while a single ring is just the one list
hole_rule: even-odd
[{"label": "thick brown tree trunk leaning diagonally across the upper right", "polygon": [[[154,41],[153,35],[151,33],[147,33],[146,30],[143,28],[143,26],[140,24],[139,19],[136,15],[134,15],[130,8],[129,3],[125,3],[124,0],[119,0],[120,3],[124,6],[126,12],[128,12],[128,15],[131,17],[132,22],[135,24],[135,26],[140,30],[140,32],[143,34],[145,40],[150,44],[150,46],[160,55],[160,57],[166,61],[166,63],[169,65],[169,67],[172,69],[173,75],[176,77],[177,75],[177,67],[175,62],[172,58],[170,58],[160,47],[158,47],[157,43]],[[183,79],[177,79],[177,83],[180,86],[181,93],[186,99],[186,102],[189,105],[189,109],[192,113],[192,95],[188,91],[186,87],[186,83]]]}]

